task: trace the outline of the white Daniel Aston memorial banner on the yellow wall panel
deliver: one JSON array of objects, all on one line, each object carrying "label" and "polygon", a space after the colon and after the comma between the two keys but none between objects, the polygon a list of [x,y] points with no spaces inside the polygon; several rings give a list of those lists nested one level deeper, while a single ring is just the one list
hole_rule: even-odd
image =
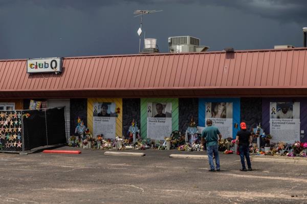
[{"label": "white Daniel Aston memorial banner on the yellow wall panel", "polygon": [[103,135],[103,138],[115,139],[115,103],[94,103],[93,107],[94,135],[100,134]]}]

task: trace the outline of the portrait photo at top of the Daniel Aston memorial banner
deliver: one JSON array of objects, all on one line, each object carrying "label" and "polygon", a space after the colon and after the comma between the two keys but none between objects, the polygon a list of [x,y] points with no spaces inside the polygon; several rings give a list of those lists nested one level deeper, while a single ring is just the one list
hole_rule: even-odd
[{"label": "portrait photo at top of the Daniel Aston memorial banner", "polygon": [[96,102],[93,106],[94,117],[116,117],[114,102]]}]

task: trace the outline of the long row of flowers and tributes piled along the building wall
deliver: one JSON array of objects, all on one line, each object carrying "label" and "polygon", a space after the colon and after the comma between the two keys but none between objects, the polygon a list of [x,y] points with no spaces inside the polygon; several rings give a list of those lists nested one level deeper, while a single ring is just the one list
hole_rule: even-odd
[{"label": "long row of flowers and tributes piled along the building wall", "polygon": [[[118,109],[118,112],[120,109]],[[135,120],[131,123],[132,126],[136,126]],[[189,122],[189,127],[195,127],[196,124],[193,118]],[[258,127],[257,127],[258,128]],[[68,145],[71,147],[81,147],[81,148],[93,148],[93,149],[117,149],[117,150],[145,150],[148,148],[152,149],[177,149],[179,151],[203,151],[204,146],[200,143],[200,140],[191,140],[193,143],[186,143],[186,135],[182,134],[181,131],[174,130],[168,137],[164,140],[142,140],[140,132],[138,132],[138,137],[136,142],[131,140],[130,135],[117,136],[115,139],[104,139],[102,134],[93,137],[92,133],[88,128],[86,128],[80,118],[78,118],[78,125],[76,127],[77,135],[71,135],[69,138]],[[258,128],[254,137],[260,137],[264,142],[265,146],[258,148],[257,144],[253,144],[250,147],[250,152],[256,155],[282,155],[282,156],[300,156],[306,157],[307,143],[295,142],[294,144],[286,144],[284,142],[270,143],[272,135],[261,134]],[[2,145],[2,144],[0,144]],[[218,142],[218,150],[223,151],[224,154],[233,154],[234,152],[235,140],[232,138],[222,139]],[[1,146],[0,146],[1,147]],[[264,148],[266,147],[266,149]],[[269,149],[269,150],[268,150]],[[265,151],[266,150],[266,151]]]}]

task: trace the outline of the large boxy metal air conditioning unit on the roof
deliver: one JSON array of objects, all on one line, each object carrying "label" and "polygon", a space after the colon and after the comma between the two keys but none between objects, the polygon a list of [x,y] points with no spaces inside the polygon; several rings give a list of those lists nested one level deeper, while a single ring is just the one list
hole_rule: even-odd
[{"label": "large boxy metal air conditioning unit on the roof", "polygon": [[192,36],[177,36],[168,38],[168,50],[170,53],[205,52],[207,46],[200,46],[200,39]]}]

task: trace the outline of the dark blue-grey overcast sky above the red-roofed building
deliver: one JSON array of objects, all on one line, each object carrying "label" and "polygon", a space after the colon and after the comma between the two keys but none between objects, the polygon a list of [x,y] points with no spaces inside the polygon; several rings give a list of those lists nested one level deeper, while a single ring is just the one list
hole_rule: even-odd
[{"label": "dark blue-grey overcast sky above the red-roofed building", "polygon": [[191,35],[209,51],[302,47],[305,0],[0,0],[0,59],[136,54],[146,37],[168,52],[170,36]]}]

